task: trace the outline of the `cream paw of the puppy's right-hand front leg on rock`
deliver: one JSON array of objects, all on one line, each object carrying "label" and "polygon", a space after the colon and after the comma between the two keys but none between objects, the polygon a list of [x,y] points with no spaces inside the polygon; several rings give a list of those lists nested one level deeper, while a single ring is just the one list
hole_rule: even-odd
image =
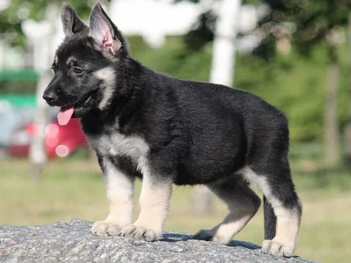
[{"label": "cream paw of the puppy's right-hand front leg on rock", "polygon": [[121,236],[154,242],[162,238],[162,230],[147,229],[143,226],[127,225],[121,231]]}]

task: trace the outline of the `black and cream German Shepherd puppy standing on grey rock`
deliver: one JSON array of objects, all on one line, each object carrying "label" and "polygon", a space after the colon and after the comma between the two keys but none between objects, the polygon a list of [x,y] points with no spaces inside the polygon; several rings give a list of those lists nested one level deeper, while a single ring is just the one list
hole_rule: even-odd
[{"label": "black and cream German Shepherd puppy standing on grey rock", "polygon": [[[290,174],[285,115],[248,92],[144,67],[100,4],[89,27],[68,3],[61,18],[66,37],[43,98],[61,107],[60,125],[79,117],[97,152],[110,212],[91,233],[161,239],[172,184],[204,184],[230,212],[194,238],[228,244],[260,206],[251,183],[264,194],[262,251],[291,256],[302,207]],[[142,178],[141,211],[132,223],[136,177]]]}]

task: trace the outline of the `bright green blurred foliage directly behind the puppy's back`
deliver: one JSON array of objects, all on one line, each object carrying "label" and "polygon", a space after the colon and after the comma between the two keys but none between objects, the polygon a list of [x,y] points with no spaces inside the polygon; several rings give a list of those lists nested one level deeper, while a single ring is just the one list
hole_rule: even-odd
[{"label": "bright green blurred foliage directly behind the puppy's back", "polygon": [[[141,37],[129,38],[134,57],[146,66],[179,78],[208,81],[212,45],[199,50],[189,49],[182,38],[167,38],[160,49],[147,46]],[[349,61],[347,45],[339,50],[341,88],[338,113],[341,126],[347,121],[347,88]],[[292,141],[313,141],[323,138],[323,111],[327,51],[322,45],[303,56],[295,49],[290,54],[277,54],[270,61],[258,56],[237,54],[234,87],[263,97],[289,117]]]}]

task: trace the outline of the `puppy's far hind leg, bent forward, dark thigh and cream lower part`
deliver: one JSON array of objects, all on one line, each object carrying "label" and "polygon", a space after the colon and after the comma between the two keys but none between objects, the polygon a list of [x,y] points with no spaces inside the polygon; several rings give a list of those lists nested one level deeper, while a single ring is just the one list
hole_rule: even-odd
[{"label": "puppy's far hind leg, bent forward, dark thigh and cream lower part", "polygon": [[242,178],[237,176],[221,179],[208,187],[229,208],[226,218],[212,229],[200,230],[193,238],[228,244],[257,212],[261,200]]}]

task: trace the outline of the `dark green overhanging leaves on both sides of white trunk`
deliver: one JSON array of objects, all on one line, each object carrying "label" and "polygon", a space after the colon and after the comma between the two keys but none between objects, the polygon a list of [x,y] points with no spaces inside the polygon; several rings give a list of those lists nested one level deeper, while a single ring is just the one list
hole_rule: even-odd
[{"label": "dark green overhanging leaves on both sides of white trunk", "polygon": [[[176,0],[183,1],[183,0]],[[188,0],[198,2],[198,0]],[[284,33],[280,27],[283,23],[292,22],[291,38],[293,44],[303,55],[309,55],[315,44],[325,42],[332,29],[345,26],[351,10],[351,0],[243,0],[243,4],[265,3],[269,12],[258,27],[265,33],[261,45],[254,55],[271,59],[275,56],[276,39]],[[191,47],[202,47],[205,41],[212,41],[212,28],[215,16],[206,12],[199,17],[199,27],[190,31],[185,42]],[[197,41],[197,42],[196,42]]]}]

